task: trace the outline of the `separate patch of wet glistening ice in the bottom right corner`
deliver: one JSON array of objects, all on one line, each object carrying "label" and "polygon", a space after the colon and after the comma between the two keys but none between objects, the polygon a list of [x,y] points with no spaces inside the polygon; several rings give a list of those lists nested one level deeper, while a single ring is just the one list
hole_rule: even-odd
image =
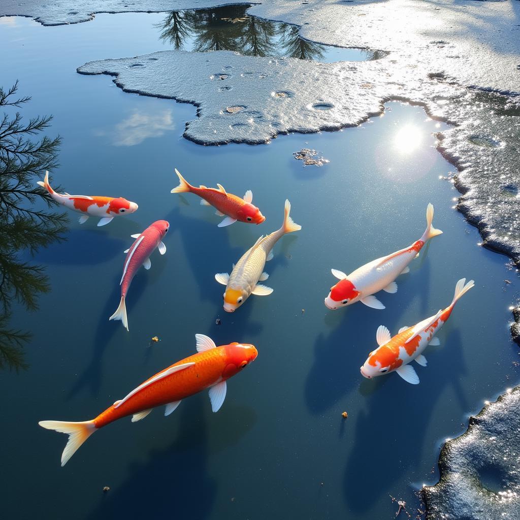
[{"label": "separate patch of wet glistening ice in the bottom right corner", "polygon": [[520,518],[520,387],[444,445],[439,470],[440,482],[423,488],[427,520]]}]

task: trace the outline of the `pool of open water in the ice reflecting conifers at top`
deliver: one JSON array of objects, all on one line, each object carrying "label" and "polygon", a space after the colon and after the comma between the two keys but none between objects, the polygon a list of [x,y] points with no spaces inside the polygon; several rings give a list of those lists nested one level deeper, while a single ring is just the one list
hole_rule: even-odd
[{"label": "pool of open water in the ice reflecting conifers at top", "polygon": [[296,25],[250,16],[246,12],[249,7],[250,4],[235,4],[172,11],[158,24],[160,37],[177,50],[231,50],[246,56],[292,57],[324,63],[378,60],[389,54],[384,50],[334,47],[306,40]]}]

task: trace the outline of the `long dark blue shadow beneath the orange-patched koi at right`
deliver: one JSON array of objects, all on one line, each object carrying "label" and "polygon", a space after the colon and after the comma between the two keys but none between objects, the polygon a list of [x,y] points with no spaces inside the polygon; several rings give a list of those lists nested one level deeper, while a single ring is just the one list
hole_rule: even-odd
[{"label": "long dark blue shadow beneath the orange-patched koi at right", "polygon": [[[438,336],[441,347],[427,347],[425,350],[430,361],[427,367],[412,362],[421,379],[419,385],[411,385],[397,374],[381,376],[378,378],[384,380],[381,382],[366,380],[360,385],[366,410],[360,411],[357,418],[348,419],[355,421],[355,440],[343,482],[345,501],[354,513],[365,514],[393,481],[417,469],[431,413],[448,386],[453,385],[460,408],[468,409],[460,383],[465,373],[461,336],[457,330],[451,330],[449,334],[444,334],[444,331],[441,330]],[[439,352],[442,347],[449,349],[444,360]],[[450,370],[446,370],[446,366]],[[447,420],[446,433],[452,430],[453,423]],[[402,450],[418,454],[413,459],[416,461],[413,467],[410,467],[413,460],[404,457]],[[431,457],[434,465],[433,453]],[[353,482],[356,482],[355,486]],[[395,490],[396,493],[403,491]]]}]

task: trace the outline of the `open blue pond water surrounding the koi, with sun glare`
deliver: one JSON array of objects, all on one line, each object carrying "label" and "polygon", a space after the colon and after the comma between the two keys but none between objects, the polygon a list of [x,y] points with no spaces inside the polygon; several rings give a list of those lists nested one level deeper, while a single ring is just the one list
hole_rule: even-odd
[{"label": "open blue pond water surrounding the koi, with sun glare", "polygon": [[[40,296],[39,311],[15,307],[11,320],[33,339],[29,369],[0,375],[3,515],[373,520],[396,511],[389,495],[413,510],[414,490],[437,480],[444,439],[520,380],[508,329],[516,276],[503,256],[477,245],[477,230],[453,209],[458,193],[440,178],[452,167],[432,135],[445,125],[393,102],[384,116],[342,132],[198,146],[181,138],[194,107],[125,94],[109,77],[75,72],[89,60],[160,49],[149,28],[163,16],[99,15],[62,27],[0,18],[2,85],[19,79],[20,94],[33,96],[23,113],[54,114],[49,135],[63,136],[55,183],[139,204],[102,228],[92,219],[80,226],[71,214],[68,240],[35,256],[52,291]],[[302,148],[330,162],[305,167],[292,155]],[[266,222],[217,228],[220,218],[196,196],[170,193],[174,167],[193,184],[251,189]],[[214,274],[280,226],[285,198],[303,229],[283,238],[266,266],[274,293],[228,315]],[[330,268],[349,272],[418,239],[428,202],[444,234],[398,278],[397,294],[378,295],[386,309],[329,311]],[[154,253],[152,268],[132,284],[128,333],[108,320],[123,250],[160,218],[171,224],[167,251]],[[426,351],[421,383],[396,374],[364,380],[359,367],[378,326],[394,334],[432,315],[462,277],[476,286],[439,333],[440,347]],[[228,383],[223,408],[213,414],[204,392],[170,417],[156,410],[136,424],[123,419],[61,468],[66,437],[37,422],[94,417],[194,353],[195,333],[258,348],[253,365]],[[150,346],[155,335],[160,341]]]}]

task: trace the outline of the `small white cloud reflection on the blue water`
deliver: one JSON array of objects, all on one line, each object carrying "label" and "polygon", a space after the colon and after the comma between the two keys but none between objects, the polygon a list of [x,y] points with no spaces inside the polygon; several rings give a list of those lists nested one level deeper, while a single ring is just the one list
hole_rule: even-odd
[{"label": "small white cloud reflection on the blue water", "polygon": [[150,114],[135,110],[132,115],[116,124],[110,131],[98,131],[98,136],[111,136],[114,146],[139,145],[149,137],[162,137],[175,128],[172,110]]}]

